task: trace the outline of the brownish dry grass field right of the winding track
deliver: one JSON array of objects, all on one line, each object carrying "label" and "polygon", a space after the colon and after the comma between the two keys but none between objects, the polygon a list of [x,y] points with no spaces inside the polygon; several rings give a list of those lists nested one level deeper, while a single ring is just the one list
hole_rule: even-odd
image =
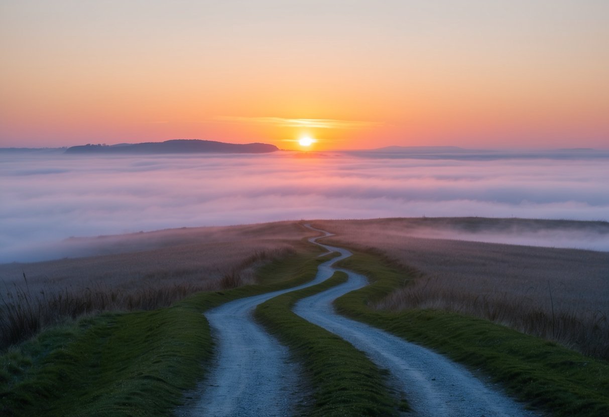
[{"label": "brownish dry grass field right of the winding track", "polygon": [[[476,315],[609,358],[609,253],[440,240],[433,229],[588,229],[605,222],[520,219],[315,221],[328,241],[375,250],[420,277],[378,308],[435,308]],[[511,224],[510,224],[511,223]]]}]

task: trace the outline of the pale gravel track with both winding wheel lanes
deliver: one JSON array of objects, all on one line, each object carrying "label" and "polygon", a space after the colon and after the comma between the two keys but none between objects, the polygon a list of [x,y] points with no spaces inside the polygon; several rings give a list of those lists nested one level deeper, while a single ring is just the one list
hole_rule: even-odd
[{"label": "pale gravel track with both winding wheel lanes", "polygon": [[[307,225],[308,226],[308,225]],[[350,257],[340,247],[317,243],[340,257],[320,264],[314,280],[298,287],[269,292],[225,303],[205,313],[217,343],[214,368],[200,386],[200,395],[180,407],[175,415],[259,417],[289,416],[303,399],[299,392],[300,368],[290,362],[287,348],[264,331],[253,319],[260,303],[318,284],[335,271],[346,272],[346,283],[312,297],[303,298],[294,312],[322,326],[364,351],[379,367],[390,371],[396,389],[403,391],[413,412],[409,416],[529,417],[518,403],[490,385],[476,379],[468,370],[426,348],[392,334],[347,319],[334,312],[332,302],[340,295],[362,288],[367,279],[332,265]]]}]

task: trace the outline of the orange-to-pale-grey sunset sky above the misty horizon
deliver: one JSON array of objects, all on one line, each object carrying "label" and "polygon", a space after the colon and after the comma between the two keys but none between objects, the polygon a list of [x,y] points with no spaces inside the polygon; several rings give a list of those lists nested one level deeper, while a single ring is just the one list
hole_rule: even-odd
[{"label": "orange-to-pale-grey sunset sky above the misty horizon", "polygon": [[606,0],[2,0],[0,147],[609,148]]}]

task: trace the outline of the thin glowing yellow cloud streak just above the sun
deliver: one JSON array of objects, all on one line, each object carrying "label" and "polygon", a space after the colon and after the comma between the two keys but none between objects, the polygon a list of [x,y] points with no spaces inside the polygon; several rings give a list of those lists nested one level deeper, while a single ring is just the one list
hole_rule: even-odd
[{"label": "thin glowing yellow cloud streak just above the sun", "polygon": [[318,129],[359,129],[371,126],[381,126],[381,122],[365,120],[337,120],[337,119],[286,119],[284,117],[242,117],[219,116],[217,122],[225,123],[253,123],[258,125],[272,125],[287,128],[318,128]]}]

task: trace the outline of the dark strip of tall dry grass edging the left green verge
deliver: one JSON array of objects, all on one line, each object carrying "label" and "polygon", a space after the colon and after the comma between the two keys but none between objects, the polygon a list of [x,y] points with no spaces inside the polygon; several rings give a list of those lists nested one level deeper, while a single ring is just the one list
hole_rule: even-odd
[{"label": "dark strip of tall dry grass edging the left green verge", "polygon": [[[27,276],[21,284],[5,284],[0,292],[0,348],[21,342],[40,329],[66,319],[102,311],[153,310],[169,306],[199,291],[229,289],[255,282],[257,267],[294,253],[290,247],[255,250],[254,253],[230,266],[216,278],[167,280],[172,274],[160,271],[148,276],[139,285],[117,288],[104,281],[92,281],[88,286],[58,288],[52,283],[30,288]],[[177,271],[175,275],[189,275]],[[175,277],[174,277],[175,278]]]}]

